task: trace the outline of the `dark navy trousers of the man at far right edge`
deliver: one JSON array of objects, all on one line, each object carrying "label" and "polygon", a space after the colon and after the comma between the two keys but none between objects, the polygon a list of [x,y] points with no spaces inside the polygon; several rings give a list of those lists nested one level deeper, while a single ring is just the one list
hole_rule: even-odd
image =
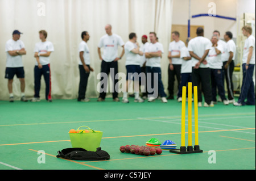
[{"label": "dark navy trousers of the man at far right edge", "polygon": [[[241,94],[238,98],[238,103],[242,105],[255,105],[255,93],[254,93],[254,83],[253,83],[253,71],[254,65],[249,64],[248,69],[245,68],[246,64],[243,64],[243,82],[241,87]],[[247,101],[245,102],[245,99]]]}]

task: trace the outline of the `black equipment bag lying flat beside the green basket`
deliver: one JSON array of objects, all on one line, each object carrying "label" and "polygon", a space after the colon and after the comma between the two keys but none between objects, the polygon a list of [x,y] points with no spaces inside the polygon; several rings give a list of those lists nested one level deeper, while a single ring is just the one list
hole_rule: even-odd
[{"label": "black equipment bag lying flat beside the green basket", "polygon": [[108,152],[101,150],[101,147],[98,147],[96,151],[87,151],[83,148],[66,148],[61,151],[57,151],[57,158],[65,159],[74,159],[74,160],[106,160],[110,159]]}]

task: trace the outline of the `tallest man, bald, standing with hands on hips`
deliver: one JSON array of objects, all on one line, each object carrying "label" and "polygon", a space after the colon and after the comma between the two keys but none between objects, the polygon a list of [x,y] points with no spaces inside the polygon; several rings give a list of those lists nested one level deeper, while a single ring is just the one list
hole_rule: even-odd
[{"label": "tallest man, bald, standing with hands on hips", "polygon": [[[101,73],[109,74],[111,68],[114,68],[114,75],[112,80],[114,82],[113,85],[113,101],[119,102],[118,92],[115,90],[115,86],[118,83],[118,80],[115,79],[115,75],[118,72],[118,64],[117,61],[121,60],[123,54],[125,53],[123,40],[120,36],[112,33],[112,26],[107,24],[105,26],[106,35],[102,36],[100,39],[100,43],[98,44],[98,56],[100,57],[101,62]],[[121,56],[118,56],[118,45],[123,48]],[[101,56],[101,48],[104,47],[103,54]],[[103,76],[101,77],[101,81],[103,80]],[[104,82],[108,83],[108,82]],[[100,96],[98,97],[98,102],[102,102],[106,97],[106,85],[102,84],[100,88]]]}]

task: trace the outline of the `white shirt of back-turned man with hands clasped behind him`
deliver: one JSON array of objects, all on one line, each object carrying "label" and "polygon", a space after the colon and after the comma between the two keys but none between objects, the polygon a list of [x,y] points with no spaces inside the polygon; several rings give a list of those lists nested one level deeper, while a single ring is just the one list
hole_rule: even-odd
[{"label": "white shirt of back-turned man with hands clasped behind him", "polygon": [[[212,47],[212,42],[203,36],[194,37],[188,42],[188,50],[192,51],[200,58],[203,57],[205,50],[210,49],[210,47]],[[192,57],[192,66],[195,66],[197,62],[199,62],[199,60]],[[199,68],[209,68],[209,65],[201,63]]]}]

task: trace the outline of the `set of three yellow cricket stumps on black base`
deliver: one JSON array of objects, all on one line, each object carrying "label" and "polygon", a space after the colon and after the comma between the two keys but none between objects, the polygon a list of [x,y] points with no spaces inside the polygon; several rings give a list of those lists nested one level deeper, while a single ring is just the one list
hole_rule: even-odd
[{"label": "set of three yellow cricket stumps on black base", "polygon": [[180,149],[170,150],[171,153],[203,153],[200,150],[198,139],[198,106],[197,106],[197,87],[194,91],[194,111],[195,111],[195,146],[192,146],[192,83],[188,83],[188,146],[185,146],[185,107],[186,107],[186,87],[182,87],[182,105],[181,105],[181,146]]}]

